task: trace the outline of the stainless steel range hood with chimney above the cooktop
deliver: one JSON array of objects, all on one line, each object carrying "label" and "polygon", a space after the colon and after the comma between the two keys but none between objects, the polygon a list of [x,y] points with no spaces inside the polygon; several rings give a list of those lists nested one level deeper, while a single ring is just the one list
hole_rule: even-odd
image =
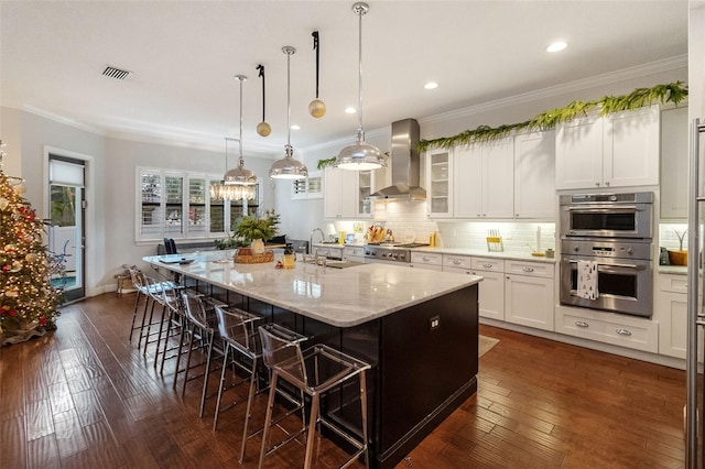
[{"label": "stainless steel range hood with chimney above the cooktop", "polygon": [[372,194],[372,198],[425,200],[426,190],[420,186],[421,156],[416,151],[420,130],[415,119],[392,122],[392,154],[388,167],[392,185]]}]

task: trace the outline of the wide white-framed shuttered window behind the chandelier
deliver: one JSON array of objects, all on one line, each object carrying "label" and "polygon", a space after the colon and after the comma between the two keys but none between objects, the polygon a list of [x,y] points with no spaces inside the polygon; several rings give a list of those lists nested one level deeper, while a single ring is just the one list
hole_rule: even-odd
[{"label": "wide white-framed shuttered window behind the chandelier", "polygon": [[137,240],[221,238],[238,217],[257,214],[259,184],[253,198],[224,203],[210,197],[219,183],[215,175],[138,167]]}]

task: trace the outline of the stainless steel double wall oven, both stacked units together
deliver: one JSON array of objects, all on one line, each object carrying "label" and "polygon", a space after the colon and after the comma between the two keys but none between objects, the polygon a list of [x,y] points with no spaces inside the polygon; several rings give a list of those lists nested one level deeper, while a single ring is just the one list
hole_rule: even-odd
[{"label": "stainless steel double wall oven, both stacked units together", "polygon": [[561,304],[651,317],[653,193],[563,195],[560,222]]}]

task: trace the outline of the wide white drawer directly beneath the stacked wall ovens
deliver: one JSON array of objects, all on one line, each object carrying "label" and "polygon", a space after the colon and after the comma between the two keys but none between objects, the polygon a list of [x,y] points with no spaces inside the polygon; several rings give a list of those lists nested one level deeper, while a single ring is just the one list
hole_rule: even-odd
[{"label": "wide white drawer directly beneath the stacked wall ovens", "polygon": [[650,320],[595,318],[582,313],[556,313],[556,331],[652,353],[659,352],[659,325]]}]

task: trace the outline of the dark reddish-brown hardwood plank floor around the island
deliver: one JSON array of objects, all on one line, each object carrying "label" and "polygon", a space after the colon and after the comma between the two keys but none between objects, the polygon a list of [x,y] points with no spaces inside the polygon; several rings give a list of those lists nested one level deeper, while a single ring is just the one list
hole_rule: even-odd
[{"label": "dark reddish-brown hardwood plank floor around the island", "polygon": [[[173,368],[160,375],[151,352],[144,358],[128,341],[133,302],[106,294],[67,306],[57,331],[0,349],[0,468],[257,466],[258,437],[245,465],[237,461],[241,406],[221,414],[213,433],[214,400],[198,418],[200,386],[189,383],[182,400]],[[399,469],[684,466],[685,372],[503,329],[480,332],[500,342],[480,360],[478,393]],[[318,467],[344,456],[323,439]],[[302,460],[294,443],[265,467]]]}]

